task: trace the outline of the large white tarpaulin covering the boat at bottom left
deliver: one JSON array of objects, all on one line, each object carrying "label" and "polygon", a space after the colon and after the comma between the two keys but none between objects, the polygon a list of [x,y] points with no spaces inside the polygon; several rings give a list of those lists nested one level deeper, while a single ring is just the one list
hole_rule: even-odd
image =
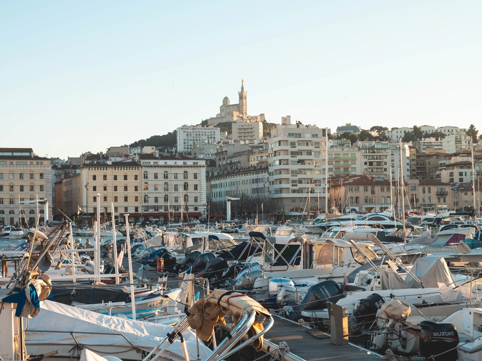
[{"label": "large white tarpaulin covering the boat at bottom left", "polygon": [[[115,351],[115,346],[126,346],[128,344],[123,337],[112,336],[112,334],[123,334],[136,347],[151,351],[172,329],[172,326],[102,315],[57,302],[43,301],[40,304],[39,314],[29,320],[29,326],[26,330],[26,345],[28,349],[29,344],[72,344],[73,339],[68,332],[75,331],[90,333],[74,333],[80,344],[111,345],[112,351]],[[66,333],[29,332],[31,330],[65,331]],[[110,334],[92,335],[92,333]],[[196,354],[196,335],[194,332],[186,330],[183,336],[189,354]],[[209,348],[204,346],[202,342],[199,343],[201,358],[207,357],[210,352]],[[180,341],[178,339],[174,341],[163,356],[173,360],[184,360]]]}]

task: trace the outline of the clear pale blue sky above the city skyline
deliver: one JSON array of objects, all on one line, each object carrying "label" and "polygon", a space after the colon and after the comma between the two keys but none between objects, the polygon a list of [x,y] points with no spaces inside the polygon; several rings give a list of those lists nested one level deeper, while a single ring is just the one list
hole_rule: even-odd
[{"label": "clear pale blue sky above the city skyline", "polygon": [[2,147],[105,151],[237,103],[279,123],[482,130],[482,2],[0,2]]}]

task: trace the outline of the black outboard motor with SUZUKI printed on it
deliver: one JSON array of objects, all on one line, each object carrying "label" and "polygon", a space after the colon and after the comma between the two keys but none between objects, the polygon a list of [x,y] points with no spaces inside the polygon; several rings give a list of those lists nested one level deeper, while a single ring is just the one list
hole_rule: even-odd
[{"label": "black outboard motor with SUZUKI printed on it", "polygon": [[[455,361],[458,357],[458,332],[450,322],[420,322],[420,355],[428,358],[431,355],[444,353],[440,359],[444,361]],[[438,357],[437,357],[438,359]]]}]

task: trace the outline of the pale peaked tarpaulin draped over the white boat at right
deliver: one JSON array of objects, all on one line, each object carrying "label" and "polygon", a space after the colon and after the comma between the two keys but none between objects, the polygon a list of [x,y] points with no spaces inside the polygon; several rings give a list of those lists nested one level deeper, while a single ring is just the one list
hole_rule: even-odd
[{"label": "pale peaked tarpaulin draped over the white boat at right", "polygon": [[[411,269],[412,273],[422,281],[423,287],[437,287],[438,282],[445,283],[448,287],[455,285],[455,280],[450,273],[445,260],[436,256],[421,257],[415,261]],[[420,287],[412,276],[405,277],[410,288]]]}]

